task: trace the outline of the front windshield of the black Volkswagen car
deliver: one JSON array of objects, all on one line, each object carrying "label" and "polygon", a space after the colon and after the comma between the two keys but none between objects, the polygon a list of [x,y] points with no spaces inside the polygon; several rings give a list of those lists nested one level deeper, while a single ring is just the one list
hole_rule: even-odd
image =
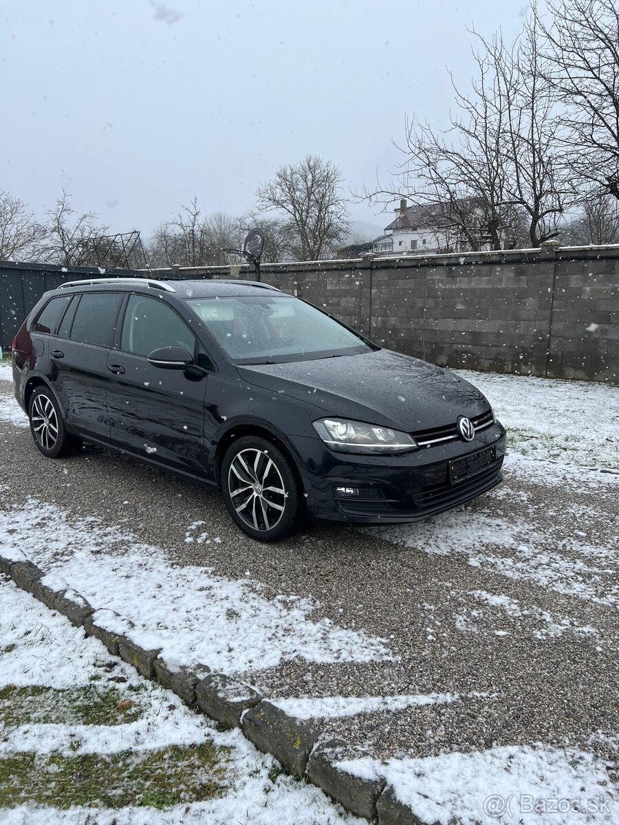
[{"label": "front windshield of the black Volkswagen car", "polygon": [[354,332],[287,295],[188,299],[220,347],[243,364],[356,355],[369,347]]}]

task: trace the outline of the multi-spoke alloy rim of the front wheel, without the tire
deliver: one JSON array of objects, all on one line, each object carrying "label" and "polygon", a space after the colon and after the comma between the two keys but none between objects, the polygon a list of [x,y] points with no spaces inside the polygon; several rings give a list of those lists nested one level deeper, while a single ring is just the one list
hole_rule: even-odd
[{"label": "multi-spoke alloy rim of the front wheel, without the tire", "polygon": [[265,450],[249,448],[234,456],[228,471],[230,500],[253,530],[273,530],[286,509],[286,486]]}]

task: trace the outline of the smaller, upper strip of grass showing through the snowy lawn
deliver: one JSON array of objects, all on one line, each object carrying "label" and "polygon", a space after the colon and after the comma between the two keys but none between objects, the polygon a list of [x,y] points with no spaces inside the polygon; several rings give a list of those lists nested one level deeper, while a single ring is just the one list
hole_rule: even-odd
[{"label": "smaller, upper strip of grass showing through the snowy lawn", "polygon": [[0,690],[0,722],[7,728],[22,724],[128,724],[144,714],[140,692],[144,688],[120,691],[95,682],[66,690],[9,685]]}]

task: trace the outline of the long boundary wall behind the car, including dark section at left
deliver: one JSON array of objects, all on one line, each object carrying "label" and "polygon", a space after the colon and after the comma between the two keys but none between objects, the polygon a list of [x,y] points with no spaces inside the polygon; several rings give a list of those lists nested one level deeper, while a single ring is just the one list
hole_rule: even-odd
[{"label": "long boundary wall behind the car, including dark section at left", "polygon": [[[107,274],[229,277],[224,267]],[[93,276],[0,262],[2,347],[45,289]],[[619,246],[269,264],[262,281],[436,364],[619,384]]]}]

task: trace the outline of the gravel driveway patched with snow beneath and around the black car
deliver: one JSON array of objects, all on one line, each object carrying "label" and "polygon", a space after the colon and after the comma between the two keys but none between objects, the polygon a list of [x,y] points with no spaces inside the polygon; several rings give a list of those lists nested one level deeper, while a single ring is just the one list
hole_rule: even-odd
[{"label": "gravel driveway patched with snow beneath and around the black car", "polygon": [[276,549],[215,494],[105,451],[41,464],[0,383],[2,552],[366,744],[380,758],[350,770],[387,775],[423,822],[616,823],[619,389],[461,375],[508,427],[500,488]]}]

